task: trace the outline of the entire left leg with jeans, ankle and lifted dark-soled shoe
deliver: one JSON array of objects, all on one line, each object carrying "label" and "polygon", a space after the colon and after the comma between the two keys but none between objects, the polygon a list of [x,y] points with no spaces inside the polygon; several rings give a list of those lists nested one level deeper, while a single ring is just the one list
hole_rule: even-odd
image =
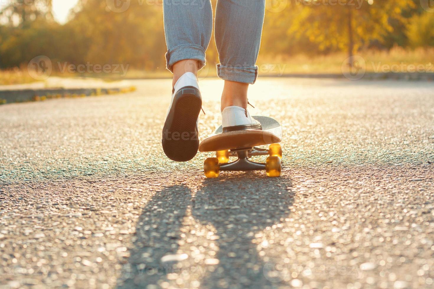
[{"label": "entire left leg with jeans, ankle and lifted dark-soled shoe", "polygon": [[211,39],[212,8],[205,1],[163,1],[167,68],[173,72],[172,98],[161,143],[177,162],[192,159],[199,147],[197,118],[202,97],[197,71],[205,65]]}]

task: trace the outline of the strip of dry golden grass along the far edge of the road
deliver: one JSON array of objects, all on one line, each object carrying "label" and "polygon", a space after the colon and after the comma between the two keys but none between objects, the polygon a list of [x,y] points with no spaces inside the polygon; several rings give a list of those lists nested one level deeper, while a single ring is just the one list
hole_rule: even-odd
[{"label": "strip of dry golden grass along the far edge of the road", "polygon": [[[391,65],[421,65],[434,72],[434,48],[427,49],[404,49],[395,47],[389,51],[368,50],[356,53],[365,60],[366,71],[378,72],[378,67],[390,67]],[[267,56],[260,55],[258,59],[259,73],[261,75],[284,75],[284,74],[341,74],[342,63],[348,55],[344,52],[332,53],[329,55],[295,55],[295,56]],[[431,67],[431,68],[430,68]],[[401,69],[401,68],[399,68]],[[381,71],[380,71],[381,72]],[[401,72],[405,72],[401,71]],[[143,71],[128,69],[125,77],[118,74],[70,74],[53,71],[52,76],[75,77],[86,76],[102,78],[106,81],[115,81],[128,78],[171,78],[171,73],[163,68],[158,71]],[[200,78],[217,76],[214,63],[208,63],[200,71]],[[0,85],[23,84],[36,81],[26,69],[10,69],[0,71]]]}]

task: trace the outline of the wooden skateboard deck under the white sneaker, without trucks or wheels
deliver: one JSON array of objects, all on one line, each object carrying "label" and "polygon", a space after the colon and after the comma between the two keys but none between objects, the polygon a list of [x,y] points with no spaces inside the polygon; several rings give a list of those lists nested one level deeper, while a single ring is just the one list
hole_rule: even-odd
[{"label": "wooden skateboard deck under the white sneaker, without trucks or wheels", "polygon": [[220,150],[237,150],[253,148],[282,141],[282,127],[280,123],[271,117],[254,116],[259,121],[262,130],[238,130],[223,133],[223,127],[217,128],[213,136],[203,140],[199,145],[199,151],[217,152]]}]

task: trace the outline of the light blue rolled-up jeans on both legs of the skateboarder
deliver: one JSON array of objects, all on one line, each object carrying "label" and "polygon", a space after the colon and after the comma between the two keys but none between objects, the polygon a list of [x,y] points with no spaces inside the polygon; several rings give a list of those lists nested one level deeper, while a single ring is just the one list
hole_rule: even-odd
[{"label": "light blue rolled-up jeans on both legs of the skateboarder", "polygon": [[[163,0],[163,11],[167,68],[172,71],[184,59],[198,60],[199,69],[204,67],[213,29],[210,0]],[[264,14],[265,0],[218,0],[214,34],[220,78],[256,81]]]}]

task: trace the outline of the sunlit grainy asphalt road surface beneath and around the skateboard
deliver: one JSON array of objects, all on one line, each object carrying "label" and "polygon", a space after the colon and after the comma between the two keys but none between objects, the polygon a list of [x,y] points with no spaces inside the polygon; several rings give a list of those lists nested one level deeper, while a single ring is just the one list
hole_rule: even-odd
[{"label": "sunlit grainy asphalt road surface beneath and around the skateboard", "polygon": [[170,83],[0,106],[0,288],[434,286],[432,82],[260,78],[283,174],[218,179],[164,156]]}]

